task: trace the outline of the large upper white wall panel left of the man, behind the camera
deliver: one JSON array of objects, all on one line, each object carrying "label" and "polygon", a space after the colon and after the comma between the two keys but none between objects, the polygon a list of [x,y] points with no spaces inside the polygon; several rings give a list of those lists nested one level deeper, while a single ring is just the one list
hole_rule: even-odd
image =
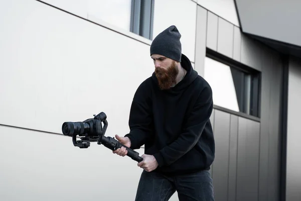
[{"label": "large upper white wall panel left of the man, behind the camera", "polygon": [[1,124],[61,133],[105,112],[108,134],[128,132],[133,94],[154,71],[148,45],[37,1],[0,13]]}]

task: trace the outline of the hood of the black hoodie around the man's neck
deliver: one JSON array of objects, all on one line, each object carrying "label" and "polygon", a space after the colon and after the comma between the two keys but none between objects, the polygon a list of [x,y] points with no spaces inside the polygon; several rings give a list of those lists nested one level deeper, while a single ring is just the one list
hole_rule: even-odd
[{"label": "hood of the black hoodie around the man's neck", "polygon": [[[184,79],[181,80],[176,86],[174,86],[166,91],[174,91],[175,92],[175,91],[182,90],[182,89],[186,88],[187,86],[189,86],[198,77],[198,72],[193,69],[190,60],[184,54],[182,54],[182,56],[181,56],[181,65],[185,70],[187,70],[187,73],[186,73]],[[152,79],[156,83],[156,85],[159,87],[158,79],[156,77],[155,72],[152,74]]]}]

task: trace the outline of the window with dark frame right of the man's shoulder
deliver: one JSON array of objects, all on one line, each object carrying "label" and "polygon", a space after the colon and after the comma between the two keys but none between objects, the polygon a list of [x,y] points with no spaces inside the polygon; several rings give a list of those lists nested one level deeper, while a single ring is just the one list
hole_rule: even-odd
[{"label": "window with dark frame right of the man's shoulder", "polygon": [[242,64],[233,63],[212,55],[205,58],[204,78],[212,88],[213,103],[259,117],[259,72],[242,70]]}]

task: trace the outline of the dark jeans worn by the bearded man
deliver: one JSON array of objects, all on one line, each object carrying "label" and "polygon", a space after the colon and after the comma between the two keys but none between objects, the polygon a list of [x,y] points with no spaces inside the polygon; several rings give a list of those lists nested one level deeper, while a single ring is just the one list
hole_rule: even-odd
[{"label": "dark jeans worn by the bearded man", "polygon": [[176,191],[180,201],[214,201],[209,170],[179,176],[166,176],[143,170],[135,201],[169,200]]}]

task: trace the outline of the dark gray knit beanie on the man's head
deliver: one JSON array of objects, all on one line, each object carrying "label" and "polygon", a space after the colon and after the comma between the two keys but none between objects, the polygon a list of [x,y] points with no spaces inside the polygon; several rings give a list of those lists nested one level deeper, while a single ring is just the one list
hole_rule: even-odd
[{"label": "dark gray knit beanie on the man's head", "polygon": [[180,42],[181,34],[176,26],[172,25],[161,32],[150,45],[150,56],[160,54],[181,62],[182,45]]}]

